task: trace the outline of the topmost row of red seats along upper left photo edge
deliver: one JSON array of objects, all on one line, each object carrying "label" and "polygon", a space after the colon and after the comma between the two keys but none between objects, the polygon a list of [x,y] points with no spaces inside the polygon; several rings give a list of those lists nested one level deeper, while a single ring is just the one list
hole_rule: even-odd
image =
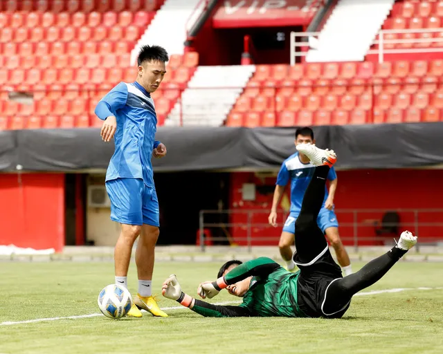
[{"label": "topmost row of red seats along upper left photo edge", "polygon": [[8,0],[0,1],[0,11],[38,11],[38,12],[105,12],[123,10],[154,11],[160,8],[163,0]]}]

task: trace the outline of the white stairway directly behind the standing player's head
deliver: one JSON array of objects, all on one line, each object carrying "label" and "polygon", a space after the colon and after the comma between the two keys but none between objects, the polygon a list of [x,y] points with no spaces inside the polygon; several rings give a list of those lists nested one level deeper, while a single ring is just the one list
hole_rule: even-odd
[{"label": "white stairway directly behind the standing player's head", "polygon": [[138,50],[145,44],[163,46],[170,55],[183,55],[186,26],[199,2],[200,0],[166,0],[132,50],[132,64],[136,62]]}]

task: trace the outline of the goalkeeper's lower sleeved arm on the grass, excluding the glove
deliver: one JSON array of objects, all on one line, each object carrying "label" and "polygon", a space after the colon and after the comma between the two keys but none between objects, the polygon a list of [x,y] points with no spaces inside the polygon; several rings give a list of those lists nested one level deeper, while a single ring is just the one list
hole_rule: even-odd
[{"label": "goalkeeper's lower sleeved arm on the grass, excluding the glove", "polygon": [[249,317],[251,313],[241,306],[217,306],[197,300],[184,292],[177,299],[181,305],[204,317]]}]

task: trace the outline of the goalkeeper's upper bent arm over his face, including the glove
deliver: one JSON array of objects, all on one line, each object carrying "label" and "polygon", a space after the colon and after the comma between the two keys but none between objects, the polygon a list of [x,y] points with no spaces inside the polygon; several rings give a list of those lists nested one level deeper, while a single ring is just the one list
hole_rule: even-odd
[{"label": "goalkeeper's upper bent arm over his face, including the glove", "polygon": [[221,289],[227,288],[229,285],[237,283],[237,281],[242,281],[248,277],[266,277],[277,268],[280,268],[280,264],[268,257],[253,259],[238,265],[216,281],[201,283],[197,293],[204,299],[206,297],[212,299]]}]

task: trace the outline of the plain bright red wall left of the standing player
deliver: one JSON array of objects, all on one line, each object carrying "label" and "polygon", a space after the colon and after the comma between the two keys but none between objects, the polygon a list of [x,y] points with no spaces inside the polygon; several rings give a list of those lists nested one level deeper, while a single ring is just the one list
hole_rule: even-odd
[{"label": "plain bright red wall left of the standing player", "polygon": [[0,174],[0,245],[64,246],[64,174]]}]

